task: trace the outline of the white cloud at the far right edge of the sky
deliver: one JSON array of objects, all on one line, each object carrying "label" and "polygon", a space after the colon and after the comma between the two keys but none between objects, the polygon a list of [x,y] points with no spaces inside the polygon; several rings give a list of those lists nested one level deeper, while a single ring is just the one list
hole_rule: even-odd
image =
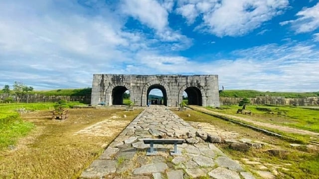
[{"label": "white cloud at the far right edge of the sky", "polygon": [[311,32],[319,28],[319,2],[309,8],[303,8],[297,14],[296,20],[281,22],[281,25],[291,24],[296,33]]}]

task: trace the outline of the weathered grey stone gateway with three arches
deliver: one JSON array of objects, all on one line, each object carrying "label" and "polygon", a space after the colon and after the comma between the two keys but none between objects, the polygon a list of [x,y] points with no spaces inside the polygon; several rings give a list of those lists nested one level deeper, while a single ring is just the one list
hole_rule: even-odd
[{"label": "weathered grey stone gateway with three arches", "polygon": [[163,104],[177,106],[182,102],[183,91],[188,103],[201,106],[219,106],[217,75],[110,75],[94,74],[91,104],[123,103],[123,94],[130,91],[135,105],[146,106],[152,89],[160,89]]}]

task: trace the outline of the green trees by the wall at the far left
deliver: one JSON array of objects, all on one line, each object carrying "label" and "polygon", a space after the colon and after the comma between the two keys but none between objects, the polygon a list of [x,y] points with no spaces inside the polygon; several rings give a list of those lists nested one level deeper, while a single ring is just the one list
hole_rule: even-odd
[{"label": "green trees by the wall at the far left", "polygon": [[[33,87],[31,86],[26,86],[24,85],[22,82],[14,82],[14,84],[12,85],[13,89],[12,91],[14,92],[15,96],[16,96],[16,101],[20,102],[20,99],[23,95],[27,95],[26,98],[26,102],[29,103],[29,95],[30,92],[33,91]],[[3,93],[10,93],[10,86],[9,85],[4,85],[3,89],[2,89]],[[11,102],[13,101],[12,97],[8,97],[5,101],[7,102]]]}]

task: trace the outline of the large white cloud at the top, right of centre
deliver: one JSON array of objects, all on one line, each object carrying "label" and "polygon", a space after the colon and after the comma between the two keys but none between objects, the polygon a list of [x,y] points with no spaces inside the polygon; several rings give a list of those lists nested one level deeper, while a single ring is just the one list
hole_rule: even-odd
[{"label": "large white cloud at the top, right of centre", "polygon": [[193,23],[201,14],[203,29],[219,37],[241,36],[281,14],[288,0],[180,0],[177,13]]}]

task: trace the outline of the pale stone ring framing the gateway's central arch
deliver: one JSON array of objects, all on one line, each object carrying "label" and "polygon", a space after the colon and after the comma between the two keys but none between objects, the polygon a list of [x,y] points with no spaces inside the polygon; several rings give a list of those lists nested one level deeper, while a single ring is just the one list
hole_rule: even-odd
[{"label": "pale stone ring framing the gateway's central arch", "polygon": [[165,82],[159,81],[159,80],[150,81],[143,86],[142,96],[141,96],[141,106],[147,105],[147,92],[148,92],[148,89],[153,85],[160,85],[166,90],[166,96],[163,96],[163,97],[166,98],[166,101],[167,101],[166,105],[169,106],[170,100],[168,99],[171,98],[170,89]]}]

